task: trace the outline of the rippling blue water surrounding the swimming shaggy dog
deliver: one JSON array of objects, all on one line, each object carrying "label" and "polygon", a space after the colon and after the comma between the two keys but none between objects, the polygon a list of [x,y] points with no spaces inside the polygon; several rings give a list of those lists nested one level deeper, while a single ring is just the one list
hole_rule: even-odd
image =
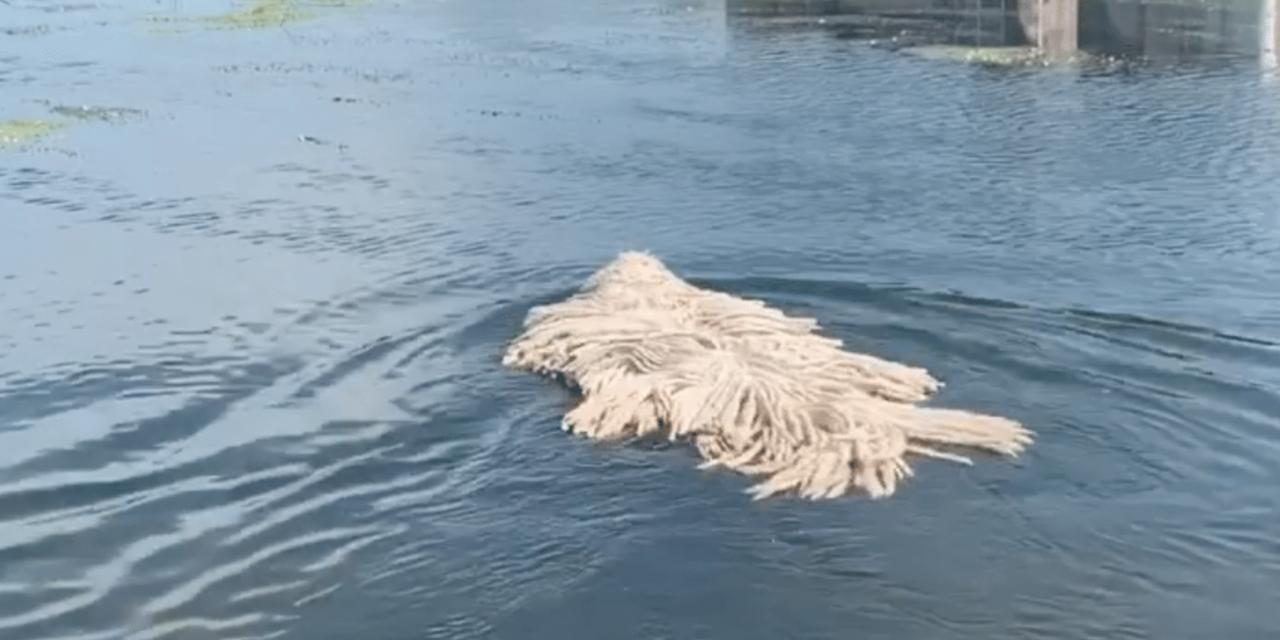
[{"label": "rippling blue water surrounding the swimming shaggy dog", "polygon": [[[1280,77],[329,4],[0,6],[65,124],[0,152],[0,637],[1280,637]],[[500,353],[628,248],[1037,443],[753,503],[566,436]]]}]

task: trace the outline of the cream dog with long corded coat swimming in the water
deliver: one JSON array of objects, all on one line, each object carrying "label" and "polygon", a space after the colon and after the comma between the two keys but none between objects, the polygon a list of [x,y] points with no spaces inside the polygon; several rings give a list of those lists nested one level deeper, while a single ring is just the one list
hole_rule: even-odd
[{"label": "cream dog with long corded coat swimming in the water", "polygon": [[625,252],[575,296],[532,308],[503,364],[577,388],[564,430],[691,442],[703,467],[760,479],[755,499],[883,498],[911,475],[909,453],[970,463],[934,447],[1016,456],[1030,444],[1011,420],[916,406],[941,387],[925,370],[817,330]]}]

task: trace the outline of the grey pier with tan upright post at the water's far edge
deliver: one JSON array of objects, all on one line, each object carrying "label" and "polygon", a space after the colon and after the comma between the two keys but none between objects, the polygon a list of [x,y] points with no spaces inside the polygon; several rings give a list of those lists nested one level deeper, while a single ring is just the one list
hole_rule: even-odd
[{"label": "grey pier with tan upright post at the water's far edge", "polygon": [[[724,0],[733,15],[908,20],[928,44],[1030,45],[1144,58],[1261,56],[1280,64],[1280,0]],[[833,20],[832,20],[833,22]],[[867,27],[870,28],[870,27]]]}]

